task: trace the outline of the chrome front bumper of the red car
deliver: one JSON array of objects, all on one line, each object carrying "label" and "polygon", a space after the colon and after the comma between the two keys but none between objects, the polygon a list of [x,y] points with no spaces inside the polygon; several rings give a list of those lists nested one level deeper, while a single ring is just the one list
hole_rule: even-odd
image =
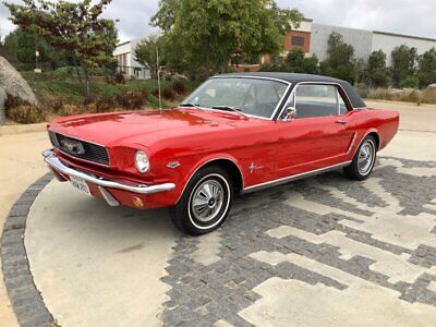
[{"label": "chrome front bumper of the red car", "polygon": [[118,190],[123,190],[123,191],[129,191],[133,193],[138,193],[138,194],[154,194],[154,193],[159,193],[159,192],[167,192],[171,191],[175,187],[175,184],[173,183],[165,183],[165,184],[157,184],[157,185],[128,185],[128,184],[122,184],[118,183],[114,181],[110,180],[105,180],[98,177],[90,175],[88,173],[75,170],[73,168],[66,167],[65,165],[62,164],[61,160],[56,156],[56,154],[52,150],[45,150],[43,153],[44,161],[48,166],[50,166],[52,169],[61,172],[62,174],[70,175],[70,177],[75,177],[77,179],[82,179],[86,182],[96,184],[98,186],[102,187],[109,187],[109,189],[118,189]]}]

